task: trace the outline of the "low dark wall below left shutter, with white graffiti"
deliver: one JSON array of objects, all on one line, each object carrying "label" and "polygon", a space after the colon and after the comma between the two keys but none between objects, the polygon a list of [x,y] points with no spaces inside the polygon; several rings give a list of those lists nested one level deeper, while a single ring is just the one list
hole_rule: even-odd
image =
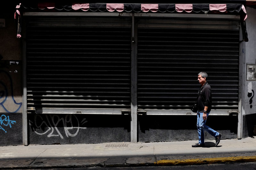
[{"label": "low dark wall below left shutter, with white graffiti", "polygon": [[29,144],[131,141],[130,115],[29,114]]}]

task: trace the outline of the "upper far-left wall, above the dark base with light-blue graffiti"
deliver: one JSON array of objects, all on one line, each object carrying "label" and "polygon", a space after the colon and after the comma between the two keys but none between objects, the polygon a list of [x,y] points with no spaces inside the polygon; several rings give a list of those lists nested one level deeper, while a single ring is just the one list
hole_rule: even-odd
[{"label": "upper far-left wall, above the dark base with light-blue graffiti", "polygon": [[5,20],[0,27],[0,113],[22,112],[21,40],[16,38],[12,11],[0,13]]}]

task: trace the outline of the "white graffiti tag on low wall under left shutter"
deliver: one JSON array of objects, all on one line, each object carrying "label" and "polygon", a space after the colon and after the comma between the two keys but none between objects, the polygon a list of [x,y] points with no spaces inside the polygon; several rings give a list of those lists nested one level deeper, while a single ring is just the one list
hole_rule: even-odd
[{"label": "white graffiti tag on low wall under left shutter", "polygon": [[83,125],[86,122],[85,118],[79,122],[76,115],[73,114],[65,115],[65,117],[61,117],[57,114],[36,114],[34,120],[30,120],[29,124],[32,130],[38,135],[60,137],[63,139],[65,136],[75,137],[78,134],[79,129],[86,129],[86,127],[80,127],[80,125]]}]

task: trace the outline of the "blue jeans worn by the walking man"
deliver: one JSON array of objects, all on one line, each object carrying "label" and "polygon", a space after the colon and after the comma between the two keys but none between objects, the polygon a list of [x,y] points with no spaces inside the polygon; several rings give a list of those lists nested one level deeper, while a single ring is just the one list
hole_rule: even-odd
[{"label": "blue jeans worn by the walking man", "polygon": [[[208,117],[209,113],[206,113],[207,117]],[[198,144],[204,144],[204,131],[207,131],[215,138],[217,138],[220,135],[219,132],[216,132],[209,126],[206,126],[206,124],[205,124],[206,120],[203,119],[203,114],[204,113],[202,113],[202,112],[197,112],[196,126],[197,126],[198,138],[199,138]]]}]

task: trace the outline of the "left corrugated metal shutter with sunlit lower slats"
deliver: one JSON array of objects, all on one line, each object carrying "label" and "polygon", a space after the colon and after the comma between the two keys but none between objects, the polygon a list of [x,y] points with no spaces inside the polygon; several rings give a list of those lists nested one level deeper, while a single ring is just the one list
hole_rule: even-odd
[{"label": "left corrugated metal shutter with sunlit lower slats", "polygon": [[26,24],[29,110],[131,109],[131,18],[37,16]]}]

